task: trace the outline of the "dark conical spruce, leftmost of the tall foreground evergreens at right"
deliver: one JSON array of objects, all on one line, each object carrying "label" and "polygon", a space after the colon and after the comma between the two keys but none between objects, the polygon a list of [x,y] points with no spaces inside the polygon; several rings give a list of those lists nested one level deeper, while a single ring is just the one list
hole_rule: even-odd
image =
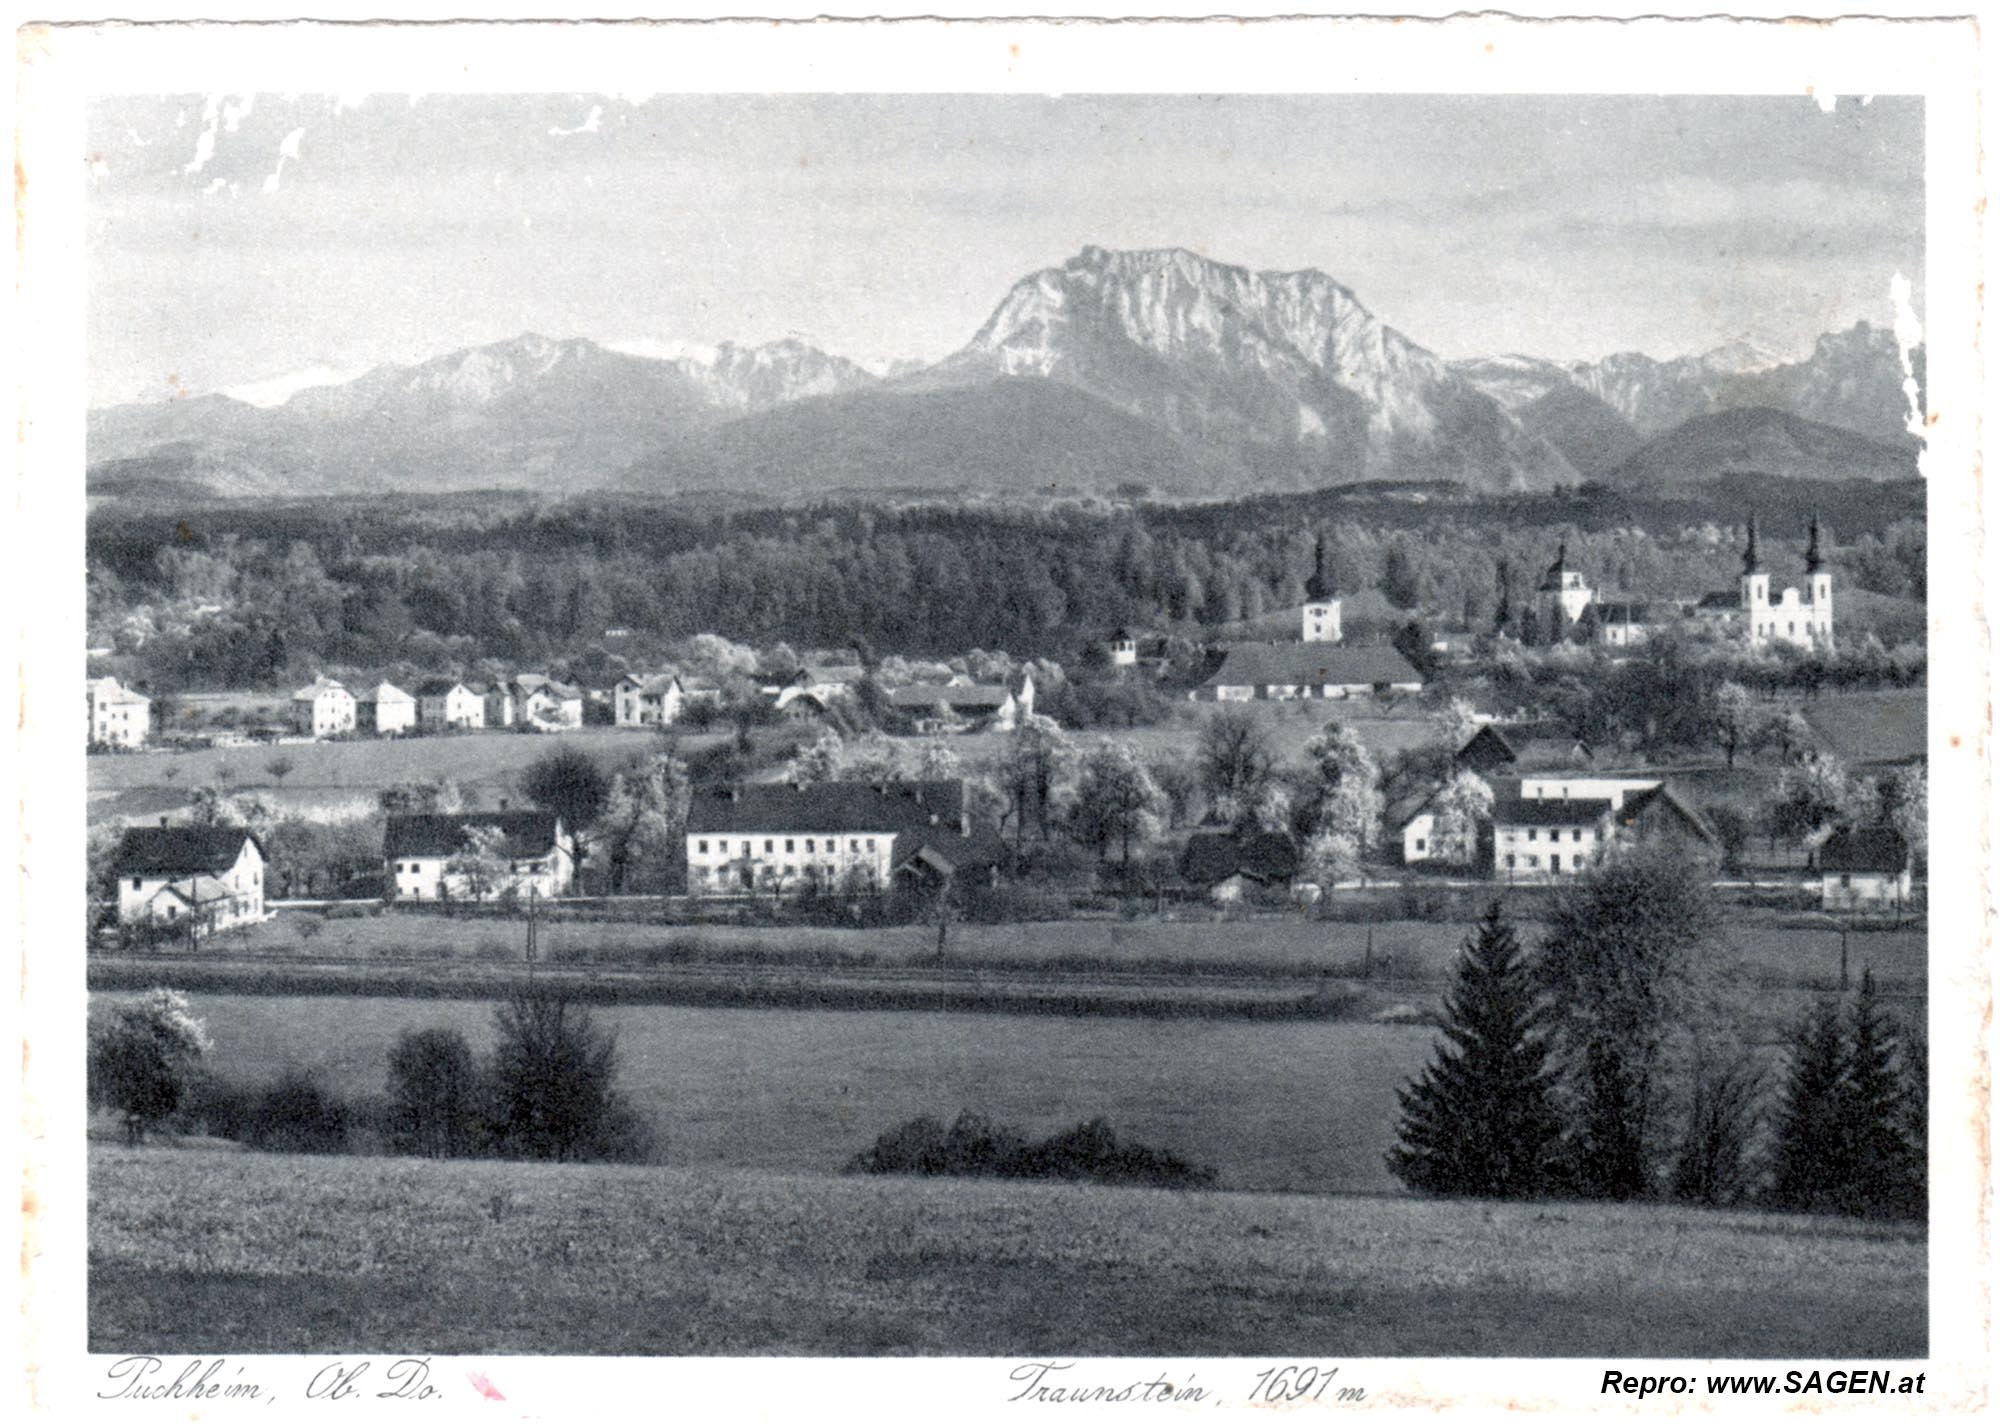
[{"label": "dark conical spruce, leftmost of the tall foreground evergreens at right", "polygon": [[1446,996],[1446,1046],[1400,1092],[1388,1168],[1412,1190],[1520,1198],[1552,1188],[1562,1136],[1534,980],[1494,902]]}]

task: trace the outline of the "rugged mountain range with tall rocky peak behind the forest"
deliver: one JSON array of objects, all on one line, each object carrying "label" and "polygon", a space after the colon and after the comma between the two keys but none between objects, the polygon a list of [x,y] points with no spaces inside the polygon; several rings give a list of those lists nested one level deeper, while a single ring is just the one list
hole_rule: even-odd
[{"label": "rugged mountain range with tall rocky peak behind the forest", "polygon": [[1802,362],[1746,344],[1448,362],[1322,272],[1084,248],[1016,282],[932,366],[874,376],[792,340],[636,356],[528,334],[280,406],[92,412],[90,488],[1238,496],[1380,480],[1684,486],[1744,470],[1880,480],[1916,474],[1902,384],[1892,336],[1866,324]]}]

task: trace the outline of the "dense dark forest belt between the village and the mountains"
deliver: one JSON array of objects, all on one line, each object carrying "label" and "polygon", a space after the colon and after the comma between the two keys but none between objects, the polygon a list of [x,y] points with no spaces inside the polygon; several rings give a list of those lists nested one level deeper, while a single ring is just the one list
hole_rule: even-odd
[{"label": "dense dark forest belt between the village and the mountains", "polygon": [[[256,688],[330,664],[554,662],[610,628],[1070,656],[1120,624],[1202,630],[1296,606],[1316,544],[1340,594],[1374,608],[1384,632],[1398,612],[1490,630],[1528,602],[1562,536],[1604,590],[1734,588],[1736,530],[1672,504],[1322,492],[1194,508],[704,512],[486,494],[106,506],[88,532],[90,622],[122,648],[146,636],[138,672],[162,688]],[[1848,582],[1922,596],[1914,512],[1876,516],[1848,542]]]}]

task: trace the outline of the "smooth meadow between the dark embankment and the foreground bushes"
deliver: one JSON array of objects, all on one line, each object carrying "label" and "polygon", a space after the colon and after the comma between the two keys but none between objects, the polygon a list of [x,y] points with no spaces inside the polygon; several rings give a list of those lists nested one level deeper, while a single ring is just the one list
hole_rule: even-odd
[{"label": "smooth meadow between the dark embankment and the foreground bushes", "polygon": [[[286,1066],[380,1094],[404,1030],[452,1026],[480,1052],[492,1004],[196,992],[210,1066]],[[610,1006],[620,1086],[676,1166],[832,1172],[914,1116],[974,1110],[1042,1136],[1092,1116],[1256,1190],[1386,1190],[1396,1088],[1426,1026],[1190,1022],[956,1012]]]}]

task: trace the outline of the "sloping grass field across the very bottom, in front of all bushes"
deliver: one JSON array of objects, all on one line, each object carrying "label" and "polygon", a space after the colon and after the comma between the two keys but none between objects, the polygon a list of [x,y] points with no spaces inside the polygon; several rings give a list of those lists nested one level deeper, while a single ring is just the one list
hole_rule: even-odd
[{"label": "sloping grass field across the very bottom, in front of all bushes", "polygon": [[1920,1358],[1918,1232],[1664,1206],[90,1152],[98,1354]]}]

